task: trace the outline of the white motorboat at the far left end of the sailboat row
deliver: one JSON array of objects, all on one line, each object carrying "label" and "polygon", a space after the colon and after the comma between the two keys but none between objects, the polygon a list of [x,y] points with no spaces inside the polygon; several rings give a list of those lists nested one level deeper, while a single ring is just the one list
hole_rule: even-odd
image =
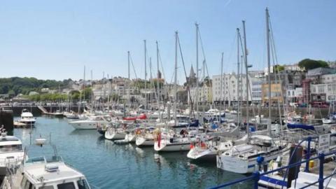
[{"label": "white motorboat at the far left end of the sailboat row", "polygon": [[96,130],[99,125],[108,124],[110,122],[110,116],[92,116],[87,120],[72,121],[70,125],[76,130]]}]

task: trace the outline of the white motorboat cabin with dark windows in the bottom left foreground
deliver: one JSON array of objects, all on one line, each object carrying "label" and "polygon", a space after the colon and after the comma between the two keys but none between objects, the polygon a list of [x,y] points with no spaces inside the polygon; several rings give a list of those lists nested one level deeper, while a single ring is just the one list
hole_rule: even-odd
[{"label": "white motorboat cabin with dark windows in the bottom left foreground", "polygon": [[30,158],[3,179],[3,189],[24,188],[83,188],[90,189],[85,176],[66,165],[59,156]]}]

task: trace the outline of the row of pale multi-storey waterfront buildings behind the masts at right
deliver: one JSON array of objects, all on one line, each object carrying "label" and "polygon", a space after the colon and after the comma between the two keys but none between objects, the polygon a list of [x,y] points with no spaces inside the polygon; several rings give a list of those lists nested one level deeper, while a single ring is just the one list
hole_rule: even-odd
[{"label": "row of pale multi-storey waterfront buildings behind the masts at right", "polygon": [[[271,103],[276,102],[333,102],[336,100],[336,69],[317,68],[302,71],[297,64],[286,65],[279,73],[267,74],[264,71],[248,72],[248,90],[246,74],[224,73],[223,76],[212,76],[211,85],[190,87],[188,102],[195,102],[198,92],[200,104],[234,104],[239,100],[254,104],[268,104],[269,80],[271,87]],[[190,78],[191,76],[190,73]],[[221,80],[222,78],[222,80]]]}]

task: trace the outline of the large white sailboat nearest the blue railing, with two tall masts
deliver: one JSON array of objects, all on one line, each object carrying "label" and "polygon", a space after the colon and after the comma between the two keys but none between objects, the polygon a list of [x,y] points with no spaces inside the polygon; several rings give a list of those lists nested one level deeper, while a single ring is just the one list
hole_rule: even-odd
[{"label": "large white sailboat nearest the blue railing, with two tall masts", "polygon": [[[270,82],[270,52],[269,52],[269,13],[266,9],[266,23],[267,23],[267,63],[268,63],[268,100],[271,104],[271,82]],[[245,21],[243,21],[244,30],[244,62],[246,68],[246,83],[248,83],[248,64],[247,64],[247,50],[246,50],[246,32]],[[238,37],[241,38],[239,29],[237,29]],[[246,85],[246,91],[248,91],[248,85]],[[246,92],[246,104],[248,106],[248,92]],[[246,120],[248,120],[248,107],[246,107]],[[247,174],[259,169],[260,164],[269,162],[276,159],[279,155],[282,155],[287,147],[286,142],[281,140],[272,139],[271,128],[271,106],[269,106],[269,121],[267,125],[268,136],[265,135],[253,135],[251,137],[251,131],[249,130],[249,124],[247,123],[246,132],[248,134],[247,144],[241,144],[234,146],[229,151],[217,155],[217,167],[224,169],[225,171]]]}]

